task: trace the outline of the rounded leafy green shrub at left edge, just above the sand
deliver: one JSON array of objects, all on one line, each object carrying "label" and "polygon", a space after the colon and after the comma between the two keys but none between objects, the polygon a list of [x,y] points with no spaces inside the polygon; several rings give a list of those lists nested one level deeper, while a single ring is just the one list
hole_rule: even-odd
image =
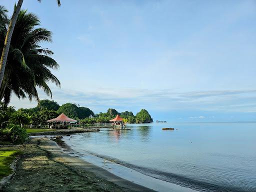
[{"label": "rounded leafy green shrub at left edge, just above the sand", "polygon": [[9,125],[7,128],[0,130],[1,141],[11,141],[22,143],[27,139],[27,132],[19,125]]}]

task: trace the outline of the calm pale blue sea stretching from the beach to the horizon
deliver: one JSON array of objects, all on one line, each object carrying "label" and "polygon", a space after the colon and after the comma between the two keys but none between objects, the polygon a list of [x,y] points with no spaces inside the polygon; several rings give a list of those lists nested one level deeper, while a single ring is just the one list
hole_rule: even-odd
[{"label": "calm pale blue sea stretching from the beach to the horizon", "polygon": [[[161,130],[174,127],[175,130]],[[143,174],[200,191],[256,191],[256,123],[130,124],[64,141]]]}]

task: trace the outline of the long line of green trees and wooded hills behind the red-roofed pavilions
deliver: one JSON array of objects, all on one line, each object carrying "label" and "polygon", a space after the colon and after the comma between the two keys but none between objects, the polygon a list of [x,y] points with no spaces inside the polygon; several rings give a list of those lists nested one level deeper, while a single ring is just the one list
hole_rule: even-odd
[{"label": "long line of green trees and wooded hills behind the red-roofed pavilions", "polygon": [[18,110],[15,110],[13,106],[2,104],[0,107],[0,125],[4,127],[10,122],[20,126],[33,124],[40,127],[47,124],[46,120],[55,118],[62,112],[83,124],[109,123],[109,120],[117,114],[123,118],[124,122],[128,123],[149,123],[153,121],[145,109],[141,109],[136,115],[133,115],[131,111],[118,112],[113,108],[109,108],[106,112],[94,114],[89,108],[75,103],[65,103],[60,106],[54,100],[44,99],[40,100],[36,107],[19,108]]}]

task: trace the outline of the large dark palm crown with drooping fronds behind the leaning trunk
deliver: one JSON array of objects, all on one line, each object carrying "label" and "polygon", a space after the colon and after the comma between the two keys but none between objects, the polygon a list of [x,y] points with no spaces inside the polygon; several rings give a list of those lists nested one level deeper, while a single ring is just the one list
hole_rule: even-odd
[{"label": "large dark palm crown with drooping fronds behind the leaning trunk", "polygon": [[30,100],[33,97],[39,100],[36,87],[42,88],[51,96],[48,81],[60,86],[59,80],[50,71],[50,68],[59,67],[50,57],[53,52],[39,46],[42,41],[51,42],[51,32],[45,28],[35,28],[39,24],[35,14],[27,10],[19,12],[11,38],[3,83],[0,86],[0,100],[4,98],[4,103],[9,102],[12,92],[18,98],[24,98],[27,94]]}]

